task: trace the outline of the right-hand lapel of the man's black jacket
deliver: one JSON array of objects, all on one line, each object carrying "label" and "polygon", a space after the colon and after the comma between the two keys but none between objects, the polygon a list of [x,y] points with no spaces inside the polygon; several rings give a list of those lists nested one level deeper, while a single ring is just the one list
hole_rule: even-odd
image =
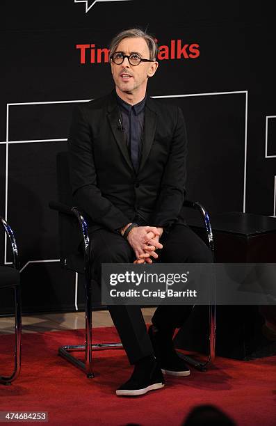
[{"label": "right-hand lapel of the man's black jacket", "polygon": [[143,150],[142,157],[140,161],[139,171],[142,170],[149,152],[152,148],[152,143],[154,141],[154,135],[156,131],[156,113],[152,109],[152,100],[149,98],[145,107],[145,125],[144,125],[144,139],[143,139]]}]

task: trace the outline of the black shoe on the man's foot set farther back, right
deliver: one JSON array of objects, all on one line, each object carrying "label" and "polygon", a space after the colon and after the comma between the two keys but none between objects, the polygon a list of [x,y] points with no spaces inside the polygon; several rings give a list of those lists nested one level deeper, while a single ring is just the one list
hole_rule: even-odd
[{"label": "black shoe on the man's foot set farther back, right", "polygon": [[163,374],[170,376],[185,377],[190,375],[190,369],[184,360],[175,352],[172,342],[173,331],[154,331],[149,326],[149,338],[152,340],[156,360],[161,366]]}]

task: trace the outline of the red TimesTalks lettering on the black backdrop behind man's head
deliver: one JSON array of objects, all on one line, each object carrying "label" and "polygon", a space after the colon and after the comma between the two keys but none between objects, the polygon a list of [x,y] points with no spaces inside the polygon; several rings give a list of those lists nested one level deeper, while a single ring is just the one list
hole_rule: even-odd
[{"label": "red TimesTalks lettering on the black backdrop behind man's head", "polygon": [[[79,63],[105,63],[108,62],[109,50],[97,48],[96,45],[76,45],[79,51]],[[197,43],[184,44],[182,40],[170,40],[169,45],[159,46],[159,61],[164,59],[195,59],[200,56],[200,45]]]}]

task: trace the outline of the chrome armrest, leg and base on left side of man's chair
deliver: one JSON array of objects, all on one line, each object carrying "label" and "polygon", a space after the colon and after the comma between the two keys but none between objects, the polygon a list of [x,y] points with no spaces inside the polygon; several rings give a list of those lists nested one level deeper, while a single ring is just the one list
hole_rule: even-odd
[{"label": "chrome armrest, leg and base on left side of man's chair", "polygon": [[[58,354],[67,361],[83,370],[88,379],[95,377],[92,371],[93,349],[122,349],[122,343],[94,343],[92,344],[92,274],[90,262],[90,239],[88,225],[83,214],[76,207],[68,207],[63,203],[51,202],[49,206],[53,210],[76,216],[83,237],[84,274],[85,274],[85,312],[86,312],[86,343],[85,345],[63,345],[58,348]],[[76,358],[71,352],[85,352],[84,362]]]}]

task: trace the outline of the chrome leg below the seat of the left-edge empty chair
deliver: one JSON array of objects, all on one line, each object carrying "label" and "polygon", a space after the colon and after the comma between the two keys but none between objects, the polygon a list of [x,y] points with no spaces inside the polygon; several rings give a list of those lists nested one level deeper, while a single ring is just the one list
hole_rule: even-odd
[{"label": "chrome leg below the seat of the left-edge empty chair", "polygon": [[14,370],[9,377],[0,376],[0,383],[10,385],[19,376],[21,370],[21,337],[22,337],[22,313],[21,313],[21,287],[15,285],[15,352]]}]

